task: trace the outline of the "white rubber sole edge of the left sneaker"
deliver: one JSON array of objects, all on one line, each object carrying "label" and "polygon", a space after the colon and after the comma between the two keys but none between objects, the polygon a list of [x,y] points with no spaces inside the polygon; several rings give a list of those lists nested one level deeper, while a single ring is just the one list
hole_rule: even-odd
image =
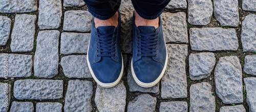
[{"label": "white rubber sole edge of the left sneaker", "polygon": [[[91,39],[91,37],[90,37],[90,39]],[[89,40],[89,47],[90,47],[90,40]],[[100,85],[100,86],[102,86],[102,87],[110,88],[110,87],[114,87],[115,85],[117,85],[117,84],[120,82],[120,80],[121,80],[121,78],[122,78],[122,76],[123,76],[123,56],[122,56],[122,54],[121,54],[121,56],[122,56],[122,69],[121,69],[121,73],[119,74],[118,79],[117,79],[115,82],[112,82],[112,83],[102,83],[102,82],[100,82],[100,81],[96,78],[96,76],[94,75],[93,70],[92,70],[92,68],[91,68],[91,64],[90,64],[90,61],[89,61],[89,58],[88,58],[89,47],[88,47],[88,50],[87,50],[87,57],[86,57],[86,59],[87,59],[87,64],[88,64],[88,66],[89,66],[89,70],[90,70],[90,73],[91,73],[93,79],[96,81],[96,83],[97,83],[98,85]]]}]

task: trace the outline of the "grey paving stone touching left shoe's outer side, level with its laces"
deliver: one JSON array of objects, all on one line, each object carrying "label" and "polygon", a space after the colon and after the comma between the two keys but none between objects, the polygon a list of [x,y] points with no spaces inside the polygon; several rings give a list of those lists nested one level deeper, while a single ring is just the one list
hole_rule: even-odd
[{"label": "grey paving stone touching left shoe's outer side, level with its laces", "polygon": [[87,53],[90,33],[61,33],[60,53]]}]

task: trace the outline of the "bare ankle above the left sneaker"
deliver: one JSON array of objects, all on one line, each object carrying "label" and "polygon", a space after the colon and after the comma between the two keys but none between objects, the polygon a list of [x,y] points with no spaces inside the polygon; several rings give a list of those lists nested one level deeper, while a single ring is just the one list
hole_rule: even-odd
[{"label": "bare ankle above the left sneaker", "polygon": [[106,20],[100,20],[98,18],[94,18],[94,27],[98,28],[100,26],[115,26],[118,25],[118,13],[116,12],[111,18]]}]

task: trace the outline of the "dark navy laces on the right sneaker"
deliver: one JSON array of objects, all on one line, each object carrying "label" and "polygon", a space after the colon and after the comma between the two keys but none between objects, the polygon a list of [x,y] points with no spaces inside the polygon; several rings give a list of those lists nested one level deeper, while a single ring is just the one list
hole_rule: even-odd
[{"label": "dark navy laces on the right sneaker", "polygon": [[158,33],[142,34],[138,32],[138,56],[152,56],[157,54],[157,38]]}]

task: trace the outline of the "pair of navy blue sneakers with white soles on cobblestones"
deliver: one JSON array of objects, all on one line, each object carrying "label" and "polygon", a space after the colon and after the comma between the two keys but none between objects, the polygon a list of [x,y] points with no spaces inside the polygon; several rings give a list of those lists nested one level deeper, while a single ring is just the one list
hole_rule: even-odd
[{"label": "pair of navy blue sneakers with white soles on cobblestones", "polygon": [[[123,58],[120,47],[121,17],[118,11],[118,26],[94,27],[92,20],[91,38],[87,52],[89,70],[102,87],[118,84],[123,74]],[[133,15],[133,58],[131,71],[135,82],[142,87],[156,85],[164,75],[167,66],[167,49],[163,35],[162,21],[159,28],[135,26]]]}]

